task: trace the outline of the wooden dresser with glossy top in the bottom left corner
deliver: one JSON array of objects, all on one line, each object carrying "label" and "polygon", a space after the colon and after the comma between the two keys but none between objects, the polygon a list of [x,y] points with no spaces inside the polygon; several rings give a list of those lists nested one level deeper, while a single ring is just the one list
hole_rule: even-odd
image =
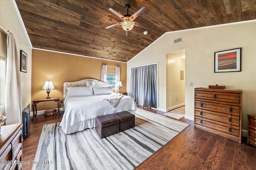
[{"label": "wooden dresser with glossy top in the bottom left corner", "polygon": [[22,164],[22,123],[1,127],[0,170],[20,170]]}]

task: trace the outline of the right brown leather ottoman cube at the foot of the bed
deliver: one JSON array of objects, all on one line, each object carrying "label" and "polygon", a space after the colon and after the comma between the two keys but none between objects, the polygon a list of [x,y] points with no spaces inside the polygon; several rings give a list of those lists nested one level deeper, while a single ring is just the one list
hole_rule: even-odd
[{"label": "right brown leather ottoman cube at the foot of the bed", "polygon": [[122,111],[118,113],[114,113],[118,119],[120,119],[120,132],[125,131],[127,129],[135,127],[135,115],[128,112]]}]

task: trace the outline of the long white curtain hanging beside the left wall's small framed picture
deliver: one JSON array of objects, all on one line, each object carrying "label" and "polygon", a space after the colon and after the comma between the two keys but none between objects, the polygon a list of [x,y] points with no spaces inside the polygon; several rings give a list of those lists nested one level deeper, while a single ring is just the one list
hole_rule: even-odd
[{"label": "long white curtain hanging beside the left wall's small framed picture", "polygon": [[6,125],[22,122],[22,96],[20,80],[19,53],[12,33],[7,36],[6,57]]}]

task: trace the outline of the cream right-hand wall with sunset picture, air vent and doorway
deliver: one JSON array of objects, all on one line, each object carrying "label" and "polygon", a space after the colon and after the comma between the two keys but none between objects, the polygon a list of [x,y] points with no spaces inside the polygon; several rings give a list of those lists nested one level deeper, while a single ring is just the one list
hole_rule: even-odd
[{"label": "cream right-hand wall with sunset picture, air vent and doorway", "polygon": [[[183,43],[173,45],[179,37],[183,37]],[[214,73],[214,52],[239,47],[242,72]],[[166,54],[182,49],[186,49],[185,118],[194,119],[194,88],[225,85],[227,89],[243,90],[242,129],[247,129],[247,115],[256,114],[256,20],[164,34],[127,63],[127,92],[130,67],[159,62],[159,109],[166,109]]]}]

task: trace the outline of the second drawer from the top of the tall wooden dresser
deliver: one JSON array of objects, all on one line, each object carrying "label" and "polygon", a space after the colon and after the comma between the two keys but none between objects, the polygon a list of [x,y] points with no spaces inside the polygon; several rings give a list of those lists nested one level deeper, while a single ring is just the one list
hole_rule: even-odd
[{"label": "second drawer from the top of the tall wooden dresser", "polygon": [[210,102],[200,102],[195,101],[195,109],[204,109],[215,111],[219,113],[225,113],[230,115],[240,116],[240,107],[239,106],[231,106],[225,104],[215,104]]}]

